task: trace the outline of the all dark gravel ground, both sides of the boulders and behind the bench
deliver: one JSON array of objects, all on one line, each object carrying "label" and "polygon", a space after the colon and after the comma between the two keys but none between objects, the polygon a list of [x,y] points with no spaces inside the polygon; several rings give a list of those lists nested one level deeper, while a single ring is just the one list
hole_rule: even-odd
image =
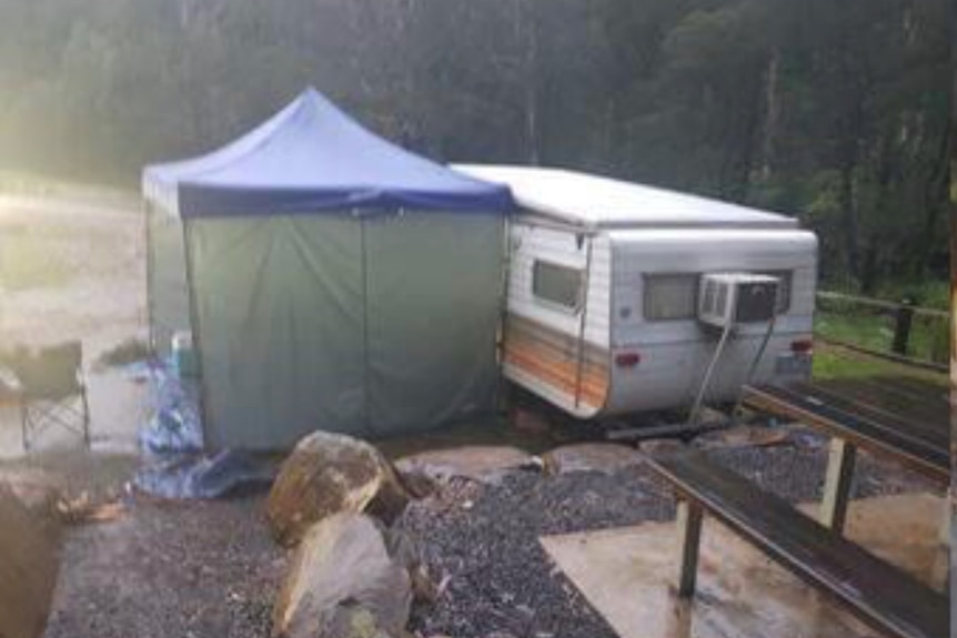
[{"label": "all dark gravel ground, both sides of the boulders and behind the bench", "polygon": [[[707,453],[790,500],[816,498],[827,449],[796,446]],[[857,495],[925,488],[864,457]],[[115,520],[70,529],[47,638],[265,638],[283,551],[262,519],[263,496],[169,504],[134,500]],[[414,503],[400,527],[444,581],[413,610],[419,636],[614,638],[538,537],[663,520],[669,490],[643,467],[614,475],[515,472],[497,485],[454,482]],[[496,634],[497,632],[497,634]]]}]

